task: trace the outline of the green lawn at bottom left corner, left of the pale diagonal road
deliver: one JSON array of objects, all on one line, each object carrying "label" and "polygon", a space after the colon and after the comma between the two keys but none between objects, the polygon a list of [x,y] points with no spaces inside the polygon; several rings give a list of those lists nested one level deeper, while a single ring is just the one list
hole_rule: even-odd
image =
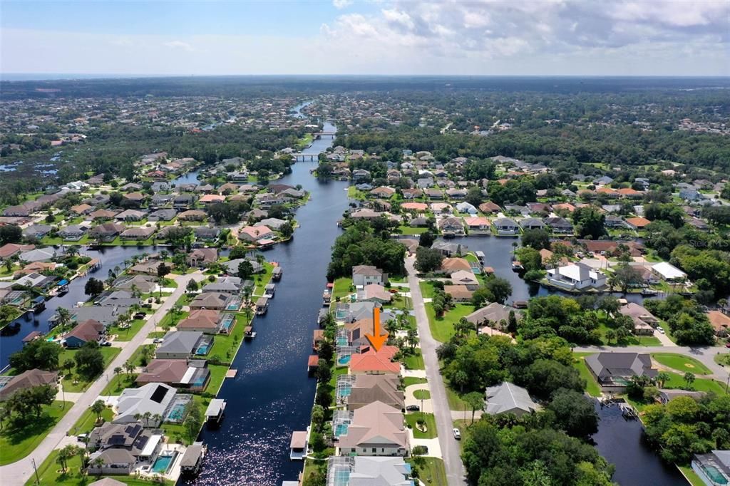
[{"label": "green lawn at bottom left corner, left of the pale diagonal road", "polygon": [[6,424],[0,431],[0,466],[14,463],[33,452],[72,406],[70,401],[54,401],[42,407],[40,417],[32,417],[20,428]]}]

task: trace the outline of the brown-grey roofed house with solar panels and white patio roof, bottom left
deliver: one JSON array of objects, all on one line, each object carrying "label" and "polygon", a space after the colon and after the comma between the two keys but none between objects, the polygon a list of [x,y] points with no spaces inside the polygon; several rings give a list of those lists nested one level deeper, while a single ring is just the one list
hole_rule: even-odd
[{"label": "brown-grey roofed house with solar panels and white patio roof, bottom left", "polygon": [[104,423],[88,436],[89,474],[131,474],[141,463],[153,463],[161,450],[160,431],[141,422]]}]

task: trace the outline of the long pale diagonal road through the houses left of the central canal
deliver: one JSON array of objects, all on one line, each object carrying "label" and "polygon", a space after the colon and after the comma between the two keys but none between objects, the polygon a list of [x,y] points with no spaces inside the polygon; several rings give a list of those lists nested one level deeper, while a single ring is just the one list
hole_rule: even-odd
[{"label": "long pale diagonal road through the houses left of the central canal", "polygon": [[188,280],[193,278],[200,282],[206,276],[198,271],[194,274],[174,275],[171,277],[175,282],[177,282],[177,288],[172,293],[172,296],[165,299],[164,303],[155,311],[152,317],[147,319],[147,323],[142,326],[142,329],[140,329],[134,338],[132,338],[126,346],[122,348],[115,360],[107,366],[107,373],[102,374],[101,377],[99,377],[96,382],[93,382],[84,393],[76,397],[76,401],[72,405],[71,409],[66,412],[61,421],[55,425],[55,427],[50,431],[50,433],[48,433],[45,439],[38,444],[38,447],[36,447],[30,455],[15,463],[0,467],[0,485],[20,486],[24,485],[26,481],[31,478],[33,475],[32,460],[35,459],[36,465],[40,466],[43,460],[45,460],[45,458],[47,458],[54,449],[61,445],[64,439],[66,441],[68,440],[66,439],[66,432],[74,426],[74,423],[76,423],[80,415],[85,412],[85,410],[88,409],[94,401],[96,401],[96,398],[101,394],[101,390],[104,390],[104,387],[107,386],[108,370],[113,370],[117,366],[123,366],[126,360],[128,360],[134,351],[137,350],[137,348],[145,341],[147,334],[154,331],[155,323],[159,323],[169,309],[172,308],[173,304],[177,302],[177,299],[185,293],[185,285],[188,283]]}]

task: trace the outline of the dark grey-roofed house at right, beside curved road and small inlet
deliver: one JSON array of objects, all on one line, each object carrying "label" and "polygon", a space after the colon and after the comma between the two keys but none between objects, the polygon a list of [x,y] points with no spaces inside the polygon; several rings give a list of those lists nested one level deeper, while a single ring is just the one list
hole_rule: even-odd
[{"label": "dark grey-roofed house at right, beside curved road and small inlet", "polygon": [[636,352],[599,352],[585,357],[585,366],[599,385],[612,391],[626,388],[632,377],[656,377],[651,356]]}]

